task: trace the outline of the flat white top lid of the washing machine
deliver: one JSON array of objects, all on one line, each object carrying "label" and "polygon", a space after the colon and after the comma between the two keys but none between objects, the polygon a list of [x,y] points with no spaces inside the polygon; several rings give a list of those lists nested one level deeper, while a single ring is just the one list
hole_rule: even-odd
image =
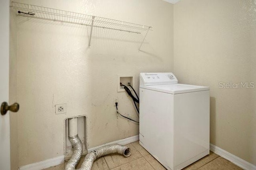
[{"label": "flat white top lid of the washing machine", "polygon": [[160,91],[160,92],[170,93],[170,94],[210,90],[210,88],[206,86],[185,85],[185,84],[149,85],[149,86],[140,85],[140,88]]}]

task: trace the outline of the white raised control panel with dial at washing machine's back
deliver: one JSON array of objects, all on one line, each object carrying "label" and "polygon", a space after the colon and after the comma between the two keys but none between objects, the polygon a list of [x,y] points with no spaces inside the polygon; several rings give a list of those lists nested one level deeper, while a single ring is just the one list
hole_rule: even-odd
[{"label": "white raised control panel with dial at washing machine's back", "polygon": [[178,80],[173,73],[140,73],[140,85],[176,84]]}]

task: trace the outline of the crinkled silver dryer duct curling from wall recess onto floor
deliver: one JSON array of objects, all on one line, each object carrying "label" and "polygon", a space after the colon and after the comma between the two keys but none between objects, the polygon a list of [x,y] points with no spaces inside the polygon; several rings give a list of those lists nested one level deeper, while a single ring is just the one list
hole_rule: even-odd
[{"label": "crinkled silver dryer duct curling from wall recess onto floor", "polygon": [[[70,160],[66,164],[65,170],[76,170],[76,165],[79,162],[83,151],[82,142],[77,134],[77,118],[74,119],[75,120],[69,119],[69,134],[74,135],[74,132],[76,132],[76,134],[74,136],[69,135],[68,137],[74,150]],[[94,160],[100,158],[101,156],[112,153],[118,153],[124,155],[125,157],[128,157],[131,155],[131,149],[127,146],[120,144],[110,144],[102,146],[97,150],[88,153],[84,158],[84,162],[78,170],[91,170]]]}]

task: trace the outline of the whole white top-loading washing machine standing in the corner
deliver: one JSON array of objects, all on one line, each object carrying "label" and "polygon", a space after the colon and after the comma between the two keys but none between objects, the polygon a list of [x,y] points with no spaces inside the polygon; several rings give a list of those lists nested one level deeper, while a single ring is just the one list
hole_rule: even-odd
[{"label": "whole white top-loading washing machine standing in the corner", "polygon": [[178,84],[172,73],[140,73],[140,145],[168,170],[208,155],[209,87]]}]

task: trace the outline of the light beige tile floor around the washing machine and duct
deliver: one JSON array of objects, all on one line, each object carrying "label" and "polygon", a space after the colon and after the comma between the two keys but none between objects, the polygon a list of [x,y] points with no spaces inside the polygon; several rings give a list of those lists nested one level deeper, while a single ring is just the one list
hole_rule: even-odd
[{"label": "light beige tile floor around the washing machine and duct", "polygon": [[[131,156],[125,158],[119,154],[110,154],[94,161],[92,170],[166,170],[153,156],[151,156],[139,142],[126,146],[132,149]],[[80,168],[84,157],[81,158],[77,168]],[[65,162],[66,163],[66,162]],[[45,170],[64,170],[65,163]],[[242,170],[232,162],[210,152],[210,155],[194,162],[184,170]]]}]

